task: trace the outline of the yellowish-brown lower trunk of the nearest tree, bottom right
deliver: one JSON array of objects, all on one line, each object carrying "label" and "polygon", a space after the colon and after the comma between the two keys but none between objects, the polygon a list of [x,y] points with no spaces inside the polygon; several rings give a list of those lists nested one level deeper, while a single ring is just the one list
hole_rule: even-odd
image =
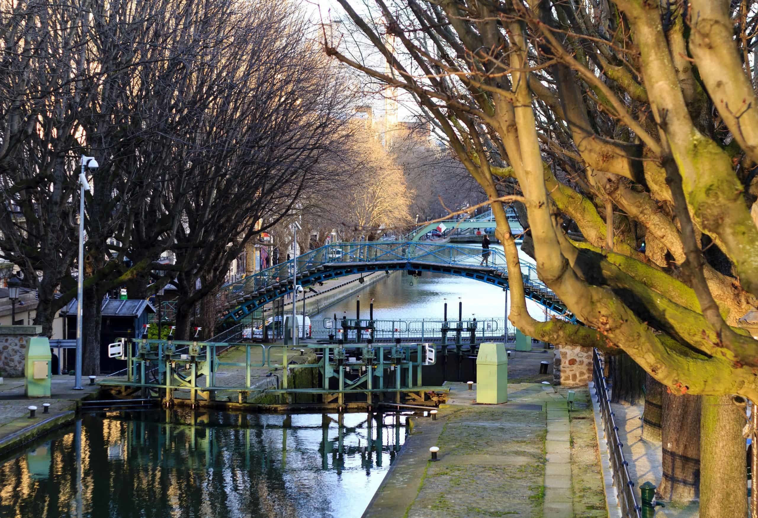
[{"label": "yellowish-brown lower trunk of the nearest tree, bottom right", "polygon": [[731,396],[703,396],[702,400],[700,518],[744,518],[747,516],[744,410],[732,402]]}]

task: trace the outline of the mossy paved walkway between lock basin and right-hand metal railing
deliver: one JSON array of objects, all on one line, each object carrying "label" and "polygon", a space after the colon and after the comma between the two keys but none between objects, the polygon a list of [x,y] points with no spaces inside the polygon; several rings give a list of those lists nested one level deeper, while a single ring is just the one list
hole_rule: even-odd
[{"label": "mossy paved walkway between lock basin and right-hand metal railing", "polygon": [[[550,385],[509,385],[500,405],[448,385],[437,421],[414,420],[365,517],[606,516],[587,403],[570,417],[565,390]],[[586,390],[578,401],[588,402]],[[429,460],[431,446],[440,448],[438,462]]]}]

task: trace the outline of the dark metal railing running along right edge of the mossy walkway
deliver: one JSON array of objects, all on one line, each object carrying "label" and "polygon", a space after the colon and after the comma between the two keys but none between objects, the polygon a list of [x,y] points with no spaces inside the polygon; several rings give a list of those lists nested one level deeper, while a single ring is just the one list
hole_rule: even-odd
[{"label": "dark metal railing running along right edge of the mossy walkway", "polygon": [[608,443],[608,454],[611,469],[613,470],[613,485],[619,495],[619,507],[622,516],[628,518],[641,518],[641,507],[637,504],[637,495],[634,494],[634,482],[629,476],[628,462],[624,457],[624,444],[619,439],[619,427],[615,424],[613,410],[611,409],[611,397],[606,385],[606,377],[603,375],[603,359],[595,349],[592,353],[592,381],[595,385],[595,397],[600,404],[600,414],[603,417],[603,433]]}]

